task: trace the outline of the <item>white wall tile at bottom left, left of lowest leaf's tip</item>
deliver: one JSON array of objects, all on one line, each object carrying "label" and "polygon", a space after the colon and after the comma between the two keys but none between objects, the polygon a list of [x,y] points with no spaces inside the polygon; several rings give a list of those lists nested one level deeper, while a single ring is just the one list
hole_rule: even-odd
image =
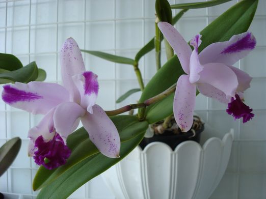
[{"label": "white wall tile at bottom left, left of lowest leaf's tip", "polygon": [[[23,182],[23,183],[21,183]],[[13,193],[32,193],[31,170],[30,169],[11,169],[11,192]]]}]

